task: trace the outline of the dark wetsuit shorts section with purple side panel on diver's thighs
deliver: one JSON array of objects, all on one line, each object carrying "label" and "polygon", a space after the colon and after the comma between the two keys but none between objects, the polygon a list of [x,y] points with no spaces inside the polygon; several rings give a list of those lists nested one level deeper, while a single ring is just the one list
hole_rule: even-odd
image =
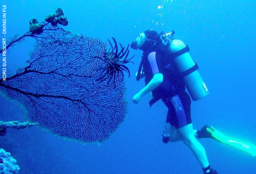
[{"label": "dark wetsuit shorts section with purple side panel on diver's thighs", "polygon": [[176,129],[192,123],[191,99],[186,91],[169,98],[163,98],[162,101],[168,107],[166,122],[175,126]]}]

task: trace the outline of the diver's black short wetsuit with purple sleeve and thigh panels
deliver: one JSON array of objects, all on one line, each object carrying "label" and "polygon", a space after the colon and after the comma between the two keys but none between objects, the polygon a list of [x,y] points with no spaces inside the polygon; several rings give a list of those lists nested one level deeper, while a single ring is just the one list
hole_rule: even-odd
[{"label": "diver's black short wetsuit with purple sleeve and thigh panels", "polygon": [[168,107],[166,122],[177,129],[192,123],[190,114],[191,99],[186,93],[185,84],[178,70],[171,63],[171,58],[166,46],[161,45],[143,53],[143,71],[145,85],[151,81],[156,73],[163,74],[163,82],[152,91],[153,100],[150,106],[161,99]]}]

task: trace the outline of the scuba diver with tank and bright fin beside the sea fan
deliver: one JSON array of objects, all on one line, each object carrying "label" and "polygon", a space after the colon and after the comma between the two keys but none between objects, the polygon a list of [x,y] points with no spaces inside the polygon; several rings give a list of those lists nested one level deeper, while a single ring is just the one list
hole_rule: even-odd
[{"label": "scuba diver with tank and bright fin beside the sea fan", "polygon": [[[206,151],[196,138],[213,138],[252,155],[256,155],[256,147],[234,141],[212,126],[206,125],[201,130],[193,129],[190,96],[194,101],[199,100],[208,95],[209,91],[198,73],[198,65],[188,53],[189,47],[181,40],[174,40],[173,34],[173,31],[158,34],[156,31],[146,30],[132,42],[132,49],[143,51],[136,80],[145,77],[145,87],[133,96],[132,101],[138,104],[149,92],[153,95],[153,99],[149,101],[150,107],[161,99],[168,108],[163,142],[182,140],[201,164],[204,174],[217,174],[210,167]],[[185,91],[186,88],[190,96]]]}]

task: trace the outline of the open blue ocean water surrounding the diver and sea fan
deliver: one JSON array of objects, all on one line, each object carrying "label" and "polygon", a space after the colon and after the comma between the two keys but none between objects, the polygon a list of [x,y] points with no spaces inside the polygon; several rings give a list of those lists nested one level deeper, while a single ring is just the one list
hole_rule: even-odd
[{"label": "open blue ocean water surrounding the diver and sea fan", "polygon": [[[115,37],[128,45],[139,32],[175,31],[190,54],[210,94],[191,105],[195,129],[213,125],[223,133],[256,144],[256,2],[252,0],[9,0],[7,35],[29,30],[29,20],[43,21],[56,8],[69,20],[66,30],[99,38]],[[163,8],[158,9],[158,6]],[[161,14],[160,14],[161,13]],[[163,16],[161,17],[161,15]],[[157,24],[156,24],[157,23]],[[8,73],[25,66],[33,40],[8,49]],[[132,97],[144,86],[135,80],[140,51],[130,50],[135,65],[126,76],[128,114],[110,138],[87,144],[59,138],[37,127],[8,130],[0,148],[11,152],[20,174],[200,174],[201,166],[182,142],[162,143],[167,108],[160,101],[149,108],[150,95],[139,105]],[[16,102],[0,97],[0,120],[25,121]],[[199,140],[219,174],[255,173],[256,158],[212,139]]]}]

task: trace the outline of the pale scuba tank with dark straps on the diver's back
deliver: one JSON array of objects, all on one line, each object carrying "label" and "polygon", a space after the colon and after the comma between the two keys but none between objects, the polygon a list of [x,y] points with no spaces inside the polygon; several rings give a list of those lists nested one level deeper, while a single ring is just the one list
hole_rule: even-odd
[{"label": "pale scuba tank with dark straps on the diver's back", "polygon": [[206,97],[209,91],[198,72],[198,65],[194,63],[189,47],[181,40],[173,40],[174,32],[166,33],[162,36],[164,41],[168,41],[167,46],[170,53],[171,63],[181,73],[183,81],[193,101]]}]

